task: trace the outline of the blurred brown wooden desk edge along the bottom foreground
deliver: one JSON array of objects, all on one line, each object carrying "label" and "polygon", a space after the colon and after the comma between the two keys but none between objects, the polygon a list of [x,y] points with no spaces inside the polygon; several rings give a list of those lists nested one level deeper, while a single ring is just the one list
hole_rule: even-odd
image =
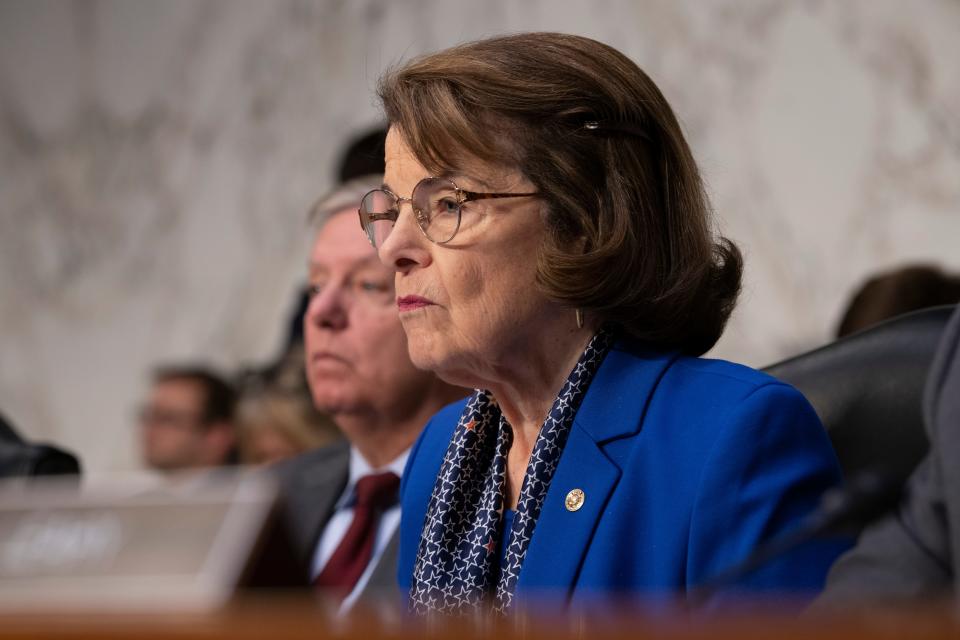
[{"label": "blurred brown wooden desk edge along the bottom foreground", "polygon": [[636,608],[602,609],[590,615],[550,618],[516,615],[432,619],[406,618],[403,626],[384,624],[366,610],[357,609],[331,620],[308,600],[243,598],[222,610],[202,614],[170,615],[37,615],[0,612],[0,640],[6,638],[70,638],[108,640],[421,640],[423,638],[497,638],[498,640],[911,640],[956,638],[960,621],[949,602],[923,607],[877,607],[797,619],[776,609],[738,611],[725,616],[690,618],[683,615],[649,616]]}]

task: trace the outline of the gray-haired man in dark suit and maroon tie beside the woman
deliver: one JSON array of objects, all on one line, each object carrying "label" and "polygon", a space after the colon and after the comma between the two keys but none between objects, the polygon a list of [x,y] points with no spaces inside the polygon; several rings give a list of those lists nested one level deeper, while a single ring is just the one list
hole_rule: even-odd
[{"label": "gray-haired man in dark suit and maroon tie beside the woman", "polygon": [[307,380],[346,441],[275,468],[304,569],[341,612],[361,598],[398,600],[399,478],[429,418],[466,393],[410,362],[393,271],[357,222],[360,199],[381,181],[352,180],[311,212]]}]

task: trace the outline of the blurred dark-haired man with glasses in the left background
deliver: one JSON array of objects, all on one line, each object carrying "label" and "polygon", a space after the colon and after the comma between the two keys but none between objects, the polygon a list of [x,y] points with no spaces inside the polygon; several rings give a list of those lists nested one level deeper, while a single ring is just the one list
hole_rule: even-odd
[{"label": "blurred dark-haired man with glasses in the left background", "polygon": [[140,408],[144,464],[163,473],[235,464],[236,392],[203,367],[161,367]]}]

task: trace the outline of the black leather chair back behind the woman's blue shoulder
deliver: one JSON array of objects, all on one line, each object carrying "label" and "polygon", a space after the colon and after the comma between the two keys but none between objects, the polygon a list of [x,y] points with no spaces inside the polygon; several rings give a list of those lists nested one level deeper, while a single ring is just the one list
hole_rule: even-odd
[{"label": "black leather chair back behind the woman's blue shoulder", "polygon": [[902,482],[926,453],[923,387],[953,310],[897,316],[764,369],[810,400],[847,478],[878,471]]}]

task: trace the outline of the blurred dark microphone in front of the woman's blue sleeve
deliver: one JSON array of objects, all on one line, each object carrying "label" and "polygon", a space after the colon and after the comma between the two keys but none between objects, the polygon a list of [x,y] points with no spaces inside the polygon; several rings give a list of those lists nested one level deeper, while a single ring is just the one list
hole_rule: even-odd
[{"label": "blurred dark microphone in front of the woman's blue sleeve", "polygon": [[729,567],[695,587],[687,601],[705,602],[719,589],[734,584],[771,560],[821,537],[855,535],[900,502],[903,484],[888,474],[861,471],[843,487],[823,494],[820,505],[803,523],[784,535],[760,545],[746,560]]}]

